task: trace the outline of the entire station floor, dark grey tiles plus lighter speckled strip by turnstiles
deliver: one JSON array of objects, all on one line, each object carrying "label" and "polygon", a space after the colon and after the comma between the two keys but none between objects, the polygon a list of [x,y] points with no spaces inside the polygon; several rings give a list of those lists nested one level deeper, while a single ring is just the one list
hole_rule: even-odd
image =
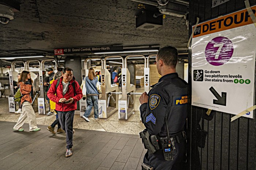
[{"label": "entire station floor, dark grey tiles plus lighter speckled strip by turnstiles", "polygon": [[23,132],[14,131],[20,114],[10,113],[8,98],[0,98],[0,169],[139,170],[146,153],[139,138],[144,130],[139,96],[135,105],[135,113],[128,120],[118,120],[118,112],[108,119],[90,116],[90,122],[75,115],[73,155],[66,158],[65,134],[52,135],[46,130],[54,115],[35,113],[41,131],[29,132],[27,121]]}]

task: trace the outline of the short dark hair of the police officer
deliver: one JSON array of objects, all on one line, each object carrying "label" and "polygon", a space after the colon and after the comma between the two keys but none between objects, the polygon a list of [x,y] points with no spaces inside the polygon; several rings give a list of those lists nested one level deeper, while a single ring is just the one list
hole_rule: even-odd
[{"label": "short dark hair of the police officer", "polygon": [[178,61],[178,51],[176,48],[166,46],[157,53],[157,60],[161,59],[166,66],[175,68]]}]

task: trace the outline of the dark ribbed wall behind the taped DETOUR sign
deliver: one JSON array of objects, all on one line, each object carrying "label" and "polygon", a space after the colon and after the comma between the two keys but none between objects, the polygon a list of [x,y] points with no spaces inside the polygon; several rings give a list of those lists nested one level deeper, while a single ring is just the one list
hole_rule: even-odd
[{"label": "dark ribbed wall behind the taped DETOUR sign", "polygon": [[[255,5],[256,0],[249,0]],[[229,0],[211,8],[210,0],[189,1],[189,37],[192,25],[245,8],[244,0]],[[189,83],[191,84],[191,50],[189,51]],[[253,74],[253,73],[252,73]],[[191,90],[191,88],[190,88]],[[203,94],[202,94],[203,95]],[[239,99],[237,99],[239,100]],[[255,169],[255,119],[192,106],[188,115],[188,169]]]}]

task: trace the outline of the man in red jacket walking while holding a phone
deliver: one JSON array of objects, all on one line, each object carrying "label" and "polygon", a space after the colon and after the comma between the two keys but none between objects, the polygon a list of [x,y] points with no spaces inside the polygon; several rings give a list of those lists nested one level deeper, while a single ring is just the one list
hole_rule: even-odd
[{"label": "man in red jacket walking while holding a phone", "polygon": [[73,146],[73,120],[76,102],[83,97],[83,93],[78,82],[73,79],[73,70],[70,68],[63,70],[62,77],[56,89],[57,82],[58,80],[53,81],[47,92],[47,96],[56,103],[55,110],[58,113],[61,128],[66,132],[66,157],[70,157]]}]

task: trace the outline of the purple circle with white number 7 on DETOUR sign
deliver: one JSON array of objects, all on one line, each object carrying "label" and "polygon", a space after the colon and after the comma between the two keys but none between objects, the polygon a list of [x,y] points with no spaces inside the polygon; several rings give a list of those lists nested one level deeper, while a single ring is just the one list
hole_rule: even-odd
[{"label": "purple circle with white number 7 on DETOUR sign", "polygon": [[217,36],[210,40],[205,49],[205,57],[208,63],[221,66],[229,61],[234,52],[234,46],[230,39]]}]

